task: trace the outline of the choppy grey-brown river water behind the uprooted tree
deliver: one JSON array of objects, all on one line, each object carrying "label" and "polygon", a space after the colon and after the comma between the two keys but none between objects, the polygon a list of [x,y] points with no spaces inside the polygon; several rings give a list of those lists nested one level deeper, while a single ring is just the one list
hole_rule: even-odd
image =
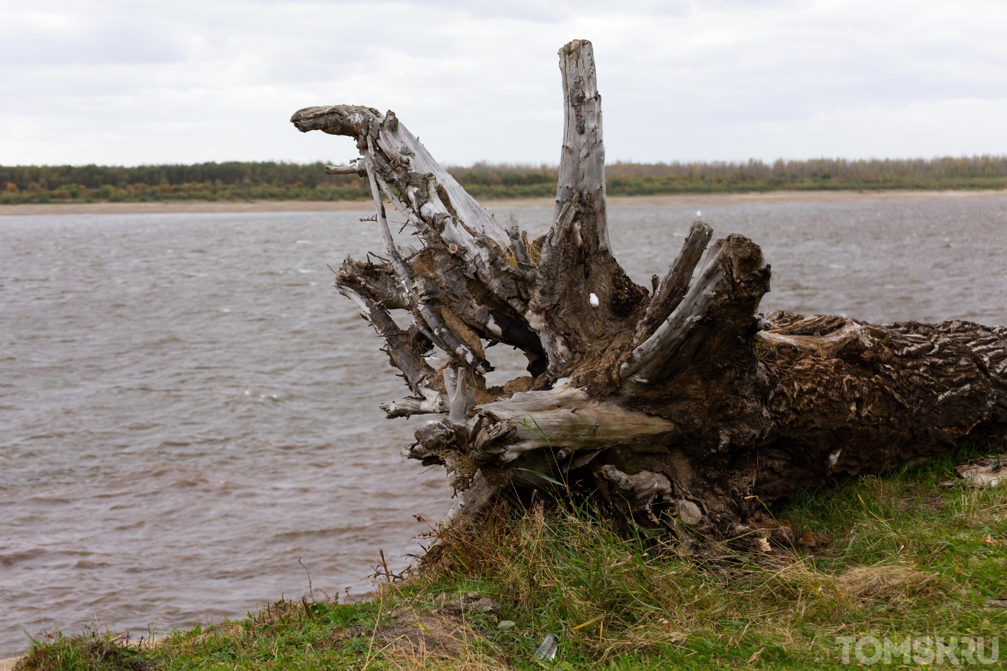
[{"label": "choppy grey-brown river water behind the uprooted tree", "polygon": [[[497,218],[506,216],[498,211]],[[516,211],[532,231],[549,210]],[[134,636],[281,594],[363,593],[449,506],[399,456],[423,418],[326,267],[355,213],[0,217],[0,657],[23,632]],[[650,286],[694,207],[609,212]],[[702,208],[772,264],[765,311],[1007,323],[1007,199]],[[500,378],[518,363],[488,358]]]}]

